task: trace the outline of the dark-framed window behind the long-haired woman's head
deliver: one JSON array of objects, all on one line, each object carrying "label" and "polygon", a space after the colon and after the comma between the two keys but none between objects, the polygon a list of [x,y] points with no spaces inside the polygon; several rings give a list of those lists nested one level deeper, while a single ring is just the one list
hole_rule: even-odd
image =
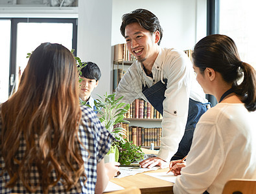
[{"label": "dark-framed window behind the long-haired woman's head", "polygon": [[0,19],[0,27],[5,29],[0,32],[0,41],[5,41],[1,45],[9,46],[1,46],[1,54],[5,55],[1,60],[5,61],[0,72],[5,76],[0,78],[0,102],[5,102],[16,91],[19,75],[27,65],[27,53],[41,43],[60,43],[69,50],[74,48],[76,55],[76,19]]}]

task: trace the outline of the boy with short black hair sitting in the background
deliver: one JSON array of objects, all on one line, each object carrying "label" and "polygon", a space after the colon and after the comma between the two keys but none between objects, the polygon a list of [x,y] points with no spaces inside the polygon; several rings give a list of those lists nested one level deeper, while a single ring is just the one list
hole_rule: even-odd
[{"label": "boy with short black hair sitting in the background", "polygon": [[86,64],[87,65],[81,69],[82,75],[80,77],[82,81],[79,83],[80,103],[89,105],[93,110],[96,110],[97,108],[94,104],[95,100],[91,96],[91,92],[98,86],[101,72],[96,63],[88,61]]}]

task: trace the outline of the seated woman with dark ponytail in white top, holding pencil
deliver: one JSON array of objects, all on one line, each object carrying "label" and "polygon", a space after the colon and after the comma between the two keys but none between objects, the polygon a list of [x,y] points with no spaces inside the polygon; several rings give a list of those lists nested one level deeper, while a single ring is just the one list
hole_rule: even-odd
[{"label": "seated woman with dark ponytail in white top, holding pencil", "polygon": [[234,41],[214,34],[194,47],[194,72],[218,104],[202,115],[187,161],[170,162],[174,193],[222,193],[231,178],[256,178],[256,71]]}]

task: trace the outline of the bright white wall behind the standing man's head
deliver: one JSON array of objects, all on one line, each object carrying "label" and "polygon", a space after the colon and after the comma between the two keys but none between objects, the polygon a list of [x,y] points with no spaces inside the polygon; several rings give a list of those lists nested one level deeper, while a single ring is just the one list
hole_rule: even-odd
[{"label": "bright white wall behind the standing man's head", "polygon": [[122,14],[146,8],[159,19],[163,28],[161,47],[191,49],[206,35],[206,1],[204,0],[113,0],[112,45],[124,43],[120,33]]}]

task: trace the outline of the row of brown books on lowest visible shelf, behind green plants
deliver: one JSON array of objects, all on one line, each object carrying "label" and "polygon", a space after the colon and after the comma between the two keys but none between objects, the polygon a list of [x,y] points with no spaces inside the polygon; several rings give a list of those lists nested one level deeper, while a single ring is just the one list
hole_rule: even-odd
[{"label": "row of brown books on lowest visible shelf, behind green plants", "polygon": [[124,123],[122,127],[126,129],[126,139],[132,140],[135,146],[150,146],[151,143],[154,143],[154,146],[161,145],[161,127],[145,128]]}]

